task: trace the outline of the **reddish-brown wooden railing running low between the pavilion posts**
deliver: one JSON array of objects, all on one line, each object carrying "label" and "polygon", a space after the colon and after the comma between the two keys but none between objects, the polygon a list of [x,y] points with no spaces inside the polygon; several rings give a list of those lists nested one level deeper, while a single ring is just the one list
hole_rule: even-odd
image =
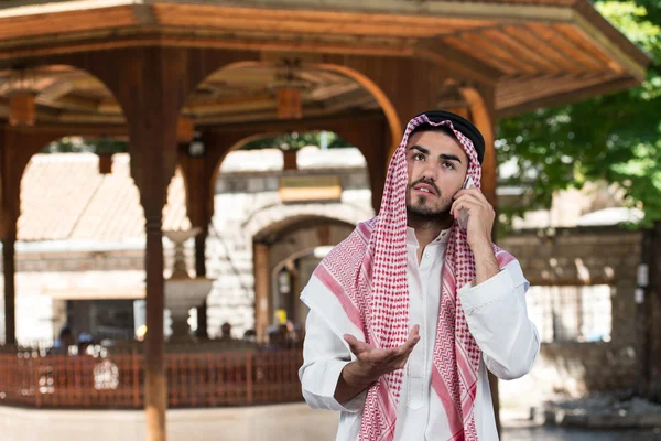
[{"label": "reddish-brown wooden railing running low between the pavilion posts", "polygon": [[[170,408],[251,406],[302,400],[302,351],[231,349],[165,354]],[[144,355],[0,353],[0,405],[139,409]]]}]

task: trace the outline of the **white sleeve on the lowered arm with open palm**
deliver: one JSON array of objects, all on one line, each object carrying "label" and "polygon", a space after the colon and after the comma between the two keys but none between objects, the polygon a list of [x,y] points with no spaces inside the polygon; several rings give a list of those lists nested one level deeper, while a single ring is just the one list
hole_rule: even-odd
[{"label": "white sleeve on the lowered arm with open palm", "polygon": [[344,367],[350,363],[350,356],[349,349],[326,322],[314,311],[310,311],[305,323],[303,366],[299,370],[299,378],[303,398],[311,408],[345,412],[362,409],[366,391],[344,405],[334,397],[337,380]]}]

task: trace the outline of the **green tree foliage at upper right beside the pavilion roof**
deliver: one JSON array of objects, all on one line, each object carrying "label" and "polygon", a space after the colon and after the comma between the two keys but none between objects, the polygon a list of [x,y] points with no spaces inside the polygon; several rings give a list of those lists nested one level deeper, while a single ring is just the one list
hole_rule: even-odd
[{"label": "green tree foliage at upper right beside the pavilion roof", "polygon": [[633,89],[499,121],[497,155],[516,162],[509,184],[525,201],[502,207],[520,215],[549,207],[554,192],[588,181],[617,183],[626,202],[643,209],[641,225],[661,219],[661,2],[600,1],[595,4],[652,57],[647,80]]}]

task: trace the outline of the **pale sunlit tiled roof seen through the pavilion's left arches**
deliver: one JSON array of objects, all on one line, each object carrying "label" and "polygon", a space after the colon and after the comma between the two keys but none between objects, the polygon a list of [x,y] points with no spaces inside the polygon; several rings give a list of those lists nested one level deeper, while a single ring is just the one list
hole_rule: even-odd
[{"label": "pale sunlit tiled roof seen through the pavilion's left arches", "polygon": [[[112,173],[98,173],[93,153],[37,154],[21,182],[18,239],[122,241],[144,237],[144,215],[129,174],[129,155],[113,155]],[[163,229],[187,229],[184,183],[176,173]]]}]

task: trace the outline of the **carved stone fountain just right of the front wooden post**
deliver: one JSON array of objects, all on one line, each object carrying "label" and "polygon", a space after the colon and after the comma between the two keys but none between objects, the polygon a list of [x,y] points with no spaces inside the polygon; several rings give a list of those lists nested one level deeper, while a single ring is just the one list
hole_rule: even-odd
[{"label": "carved stone fountain just right of the front wooden post", "polygon": [[186,268],[184,244],[201,232],[202,228],[198,227],[163,232],[174,243],[174,269],[165,280],[165,308],[171,313],[173,338],[188,335],[188,311],[204,302],[212,291],[213,280],[205,277],[192,278]]}]

